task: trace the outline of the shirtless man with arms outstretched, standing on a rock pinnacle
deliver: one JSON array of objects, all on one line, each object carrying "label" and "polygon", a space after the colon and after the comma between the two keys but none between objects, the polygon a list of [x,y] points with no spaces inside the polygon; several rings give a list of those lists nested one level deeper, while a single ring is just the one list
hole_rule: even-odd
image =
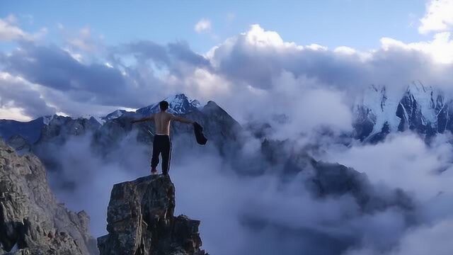
[{"label": "shirtless man with arms outstretched, standing on a rock pinnacle", "polygon": [[167,113],[166,112],[168,109],[167,101],[161,101],[159,103],[159,108],[161,108],[161,111],[159,113],[152,114],[147,118],[132,120],[132,123],[154,121],[156,125],[156,135],[154,135],[153,154],[151,157],[151,174],[157,174],[156,166],[159,164],[159,154],[162,154],[162,174],[168,175],[171,159],[171,141],[170,141],[171,120],[188,124],[193,124],[194,122],[187,118]]}]

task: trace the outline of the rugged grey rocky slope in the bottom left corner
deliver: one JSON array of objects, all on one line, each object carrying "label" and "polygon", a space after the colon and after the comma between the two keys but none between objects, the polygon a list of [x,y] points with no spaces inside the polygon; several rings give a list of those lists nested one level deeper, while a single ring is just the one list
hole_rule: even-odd
[{"label": "rugged grey rocky slope in the bottom left corner", "polygon": [[0,254],[98,254],[88,222],[57,203],[37,157],[0,140]]}]

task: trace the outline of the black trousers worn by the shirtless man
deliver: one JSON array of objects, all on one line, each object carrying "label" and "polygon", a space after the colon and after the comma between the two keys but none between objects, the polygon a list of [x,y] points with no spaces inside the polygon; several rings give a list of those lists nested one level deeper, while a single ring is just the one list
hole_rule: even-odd
[{"label": "black trousers worn by the shirtless man", "polygon": [[154,135],[151,168],[159,164],[159,154],[162,156],[162,174],[168,174],[171,161],[171,141],[168,135]]}]

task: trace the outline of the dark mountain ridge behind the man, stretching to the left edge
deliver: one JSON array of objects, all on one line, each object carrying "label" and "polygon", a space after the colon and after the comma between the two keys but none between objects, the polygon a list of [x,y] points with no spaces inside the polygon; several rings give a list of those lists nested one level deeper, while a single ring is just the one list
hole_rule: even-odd
[{"label": "dark mountain ridge behind the man, stretching to the left edge", "polygon": [[[184,94],[166,99],[170,104],[170,112],[184,115],[204,127],[203,132],[210,140],[208,146],[214,146],[222,153],[237,146],[241,125],[217,103],[209,101],[205,106],[200,107],[198,101],[190,100]],[[159,103],[154,103],[136,112],[118,110],[105,115],[101,121],[100,118],[93,116],[71,118],[60,115],[42,117],[28,123],[0,120],[0,136],[19,154],[33,152],[40,157],[50,171],[58,171],[61,166],[57,164],[59,159],[54,153],[55,147],[64,145],[74,137],[87,137],[93,153],[96,152],[101,157],[107,157],[110,152],[120,149],[122,140],[127,137],[134,137],[132,139],[143,145],[151,145],[151,135],[155,130],[154,123],[132,125],[131,121],[157,111],[158,107]],[[171,136],[175,138],[174,142],[189,147],[196,145],[192,125],[183,123],[171,125]],[[33,140],[27,137],[33,137]]]}]

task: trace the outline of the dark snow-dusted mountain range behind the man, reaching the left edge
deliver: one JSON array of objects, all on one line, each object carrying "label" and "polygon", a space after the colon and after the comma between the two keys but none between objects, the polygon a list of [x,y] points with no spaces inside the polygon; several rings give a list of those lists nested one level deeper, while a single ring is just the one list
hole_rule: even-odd
[{"label": "dark snow-dusted mountain range behind the man, reaching the left edge", "polygon": [[[236,140],[236,130],[239,123],[231,118],[216,103],[210,101],[200,107],[200,102],[190,100],[184,94],[177,94],[165,99],[169,103],[169,111],[175,114],[188,115],[188,118],[196,120],[205,128],[205,134],[212,137],[212,143],[223,146],[225,140]],[[33,151],[40,156],[42,145],[63,145],[70,137],[88,135],[93,138],[93,145],[98,145],[105,151],[124,138],[132,130],[138,130],[137,140],[150,142],[149,132],[153,130],[153,123],[141,123],[132,125],[131,120],[142,118],[144,115],[159,111],[159,103],[140,108],[136,112],[117,110],[105,115],[103,118],[94,118],[85,115],[81,118],[52,115],[21,123],[14,120],[0,120],[0,137],[14,145],[16,148],[32,147]],[[193,130],[188,125],[174,123],[173,135],[190,134]],[[144,132],[144,130],[146,132]],[[10,141],[11,140],[11,141]]]}]

